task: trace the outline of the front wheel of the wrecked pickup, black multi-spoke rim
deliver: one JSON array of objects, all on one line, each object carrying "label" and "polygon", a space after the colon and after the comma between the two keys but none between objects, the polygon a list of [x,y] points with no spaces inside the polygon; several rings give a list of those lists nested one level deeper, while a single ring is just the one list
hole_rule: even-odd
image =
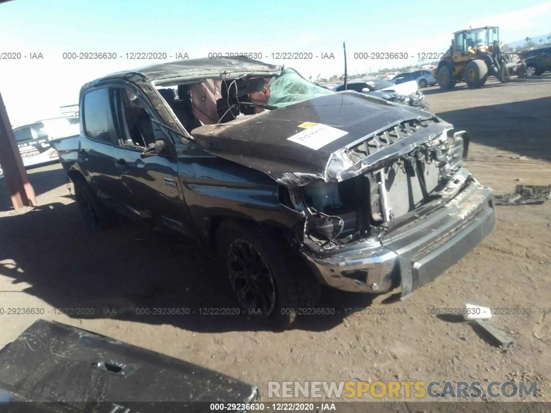
[{"label": "front wheel of the wrecked pickup, black multi-spoke rim", "polygon": [[241,307],[279,328],[320,297],[320,284],[276,231],[225,221],[217,231],[217,254]]}]

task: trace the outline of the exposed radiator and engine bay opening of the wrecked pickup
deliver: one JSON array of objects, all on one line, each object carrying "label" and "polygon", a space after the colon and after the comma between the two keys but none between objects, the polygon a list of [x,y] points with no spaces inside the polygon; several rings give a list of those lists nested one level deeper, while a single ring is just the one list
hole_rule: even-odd
[{"label": "exposed radiator and engine bay opening of the wrecked pickup", "polygon": [[[348,151],[356,162],[430,121],[402,122]],[[293,207],[306,217],[304,242],[325,249],[382,236],[400,222],[419,218],[455,196],[471,177],[462,167],[469,137],[450,129],[374,170],[340,181],[316,181],[289,189]],[[428,208],[433,206],[433,208]]]}]

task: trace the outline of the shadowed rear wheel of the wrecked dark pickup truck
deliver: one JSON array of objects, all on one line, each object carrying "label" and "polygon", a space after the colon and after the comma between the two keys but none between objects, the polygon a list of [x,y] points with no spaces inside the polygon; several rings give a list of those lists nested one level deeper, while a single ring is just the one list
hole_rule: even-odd
[{"label": "shadowed rear wheel of the wrecked dark pickup truck", "polygon": [[74,195],[85,224],[94,231],[105,230],[116,222],[116,214],[100,202],[85,181],[74,183]]}]

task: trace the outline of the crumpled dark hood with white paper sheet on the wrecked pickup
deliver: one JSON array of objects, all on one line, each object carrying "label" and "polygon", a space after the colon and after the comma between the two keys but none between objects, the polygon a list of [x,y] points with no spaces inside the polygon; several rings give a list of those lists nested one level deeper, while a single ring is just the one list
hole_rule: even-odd
[{"label": "crumpled dark hood with white paper sheet on the wrecked pickup", "polygon": [[[409,127],[404,129],[404,122],[425,126],[412,133]],[[451,125],[431,113],[350,91],[201,126],[192,135],[208,153],[267,173],[293,188],[360,175],[446,128]],[[396,132],[388,135],[389,130]],[[358,153],[366,142],[370,147]]]}]

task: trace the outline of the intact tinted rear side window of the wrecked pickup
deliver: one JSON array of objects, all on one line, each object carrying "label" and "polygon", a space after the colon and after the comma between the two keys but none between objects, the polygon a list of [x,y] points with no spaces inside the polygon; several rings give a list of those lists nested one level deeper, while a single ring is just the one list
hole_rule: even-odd
[{"label": "intact tinted rear side window of the wrecked pickup", "polygon": [[107,89],[84,95],[84,133],[91,139],[111,143],[111,105]]}]

